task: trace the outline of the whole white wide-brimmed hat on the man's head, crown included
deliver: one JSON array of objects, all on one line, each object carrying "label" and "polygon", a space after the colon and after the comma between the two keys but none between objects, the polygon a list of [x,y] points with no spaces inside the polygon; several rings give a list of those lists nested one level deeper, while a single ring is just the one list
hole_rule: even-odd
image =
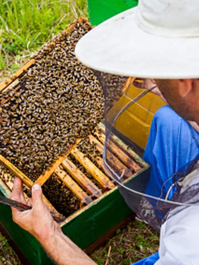
[{"label": "whole white wide-brimmed hat on the man's head, crown included", "polygon": [[86,66],[143,78],[199,77],[199,1],[140,0],[76,45]]}]

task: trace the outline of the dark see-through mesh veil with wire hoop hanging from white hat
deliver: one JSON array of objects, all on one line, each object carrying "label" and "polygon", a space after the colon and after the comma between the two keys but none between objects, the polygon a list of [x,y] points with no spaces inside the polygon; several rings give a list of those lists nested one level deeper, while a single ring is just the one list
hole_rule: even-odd
[{"label": "dark see-through mesh veil with wire hoop hanging from white hat", "polygon": [[[160,231],[161,225],[167,218],[172,217],[183,208],[199,203],[199,184],[197,183],[199,177],[199,137],[195,135],[194,129],[187,124],[188,130],[193,136],[194,144],[191,144],[194,145],[193,148],[196,148],[191,160],[190,156],[187,156],[183,162],[179,163],[180,153],[178,152],[181,152],[181,150],[178,146],[173,146],[172,148],[176,148],[176,150],[170,151],[173,152],[172,159],[176,159],[176,166],[170,166],[172,168],[170,173],[169,171],[165,173],[162,170],[161,174],[163,176],[157,180],[156,165],[152,163],[150,170],[144,170],[142,169],[142,164],[139,163],[139,159],[135,160],[136,153],[142,156],[143,152],[132,140],[133,136],[137,134],[140,134],[141,137],[143,135],[141,131],[143,129],[140,129],[136,124],[141,119],[143,123],[146,123],[147,115],[151,115],[156,103],[153,101],[156,101],[158,97],[155,95],[151,97],[151,91],[157,86],[152,83],[151,87],[140,89],[135,86],[138,84],[140,87],[140,84],[143,84],[143,80],[140,78],[112,75],[95,70],[94,73],[103,89],[105,98],[104,125],[106,139],[103,151],[104,169],[114,183],[119,186],[120,193],[128,206],[140,218],[150,223],[157,231]],[[148,97],[149,95],[150,97]],[[148,106],[148,114],[145,114],[145,116],[141,113],[144,109],[143,102]],[[155,145],[155,141],[159,140],[158,138],[161,140],[161,124],[164,123],[164,112],[167,111],[168,113],[169,111],[173,112],[170,107],[165,105],[158,110],[153,119],[152,127],[158,126],[160,129],[154,132],[153,128],[151,128],[149,143],[144,154],[144,159],[146,158],[149,163],[151,161],[150,157],[154,155],[157,157],[158,152],[160,159],[163,162],[167,161],[166,156],[170,151],[167,151],[164,156],[161,153],[163,152],[161,151],[161,146],[159,151],[154,151],[150,147],[151,144]],[[175,122],[175,115],[179,119],[175,113],[174,120],[170,120],[169,126],[172,126],[171,123]],[[132,127],[132,123],[135,127]],[[164,126],[166,125],[165,123]],[[172,128],[174,130],[173,136],[177,135],[179,127],[174,124]],[[125,133],[128,136],[132,136],[132,139],[126,137]],[[154,137],[155,140],[153,139]],[[171,135],[165,138],[171,140],[170,137]],[[139,136],[137,136],[137,139],[139,139]],[[183,140],[185,141],[185,139]],[[161,145],[161,142],[159,144]],[[162,145],[164,144],[168,144],[168,139],[163,140]],[[122,149],[124,145],[127,145],[125,150]],[[165,148],[163,147],[163,149]],[[156,153],[153,154],[153,152]],[[185,164],[183,164],[184,161]],[[161,166],[159,164],[157,163],[157,167]],[[164,177],[165,174],[170,175]]]}]

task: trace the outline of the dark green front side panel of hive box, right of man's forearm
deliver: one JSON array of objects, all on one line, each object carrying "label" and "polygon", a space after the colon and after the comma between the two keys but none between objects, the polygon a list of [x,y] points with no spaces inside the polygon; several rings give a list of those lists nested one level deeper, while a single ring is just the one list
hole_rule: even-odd
[{"label": "dark green front side panel of hive box, right of man's forearm", "polygon": [[62,226],[62,231],[85,249],[131,213],[119,190],[114,189]]}]

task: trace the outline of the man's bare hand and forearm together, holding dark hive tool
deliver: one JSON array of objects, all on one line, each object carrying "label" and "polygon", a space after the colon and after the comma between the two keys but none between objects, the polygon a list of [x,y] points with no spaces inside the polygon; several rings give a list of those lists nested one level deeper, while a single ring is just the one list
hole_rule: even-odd
[{"label": "man's bare hand and forearm together, holding dark hive tool", "polygon": [[[26,203],[19,178],[15,179],[10,198]],[[20,212],[16,208],[12,208],[13,220],[39,240],[56,264],[96,265],[76,244],[62,233],[60,226],[53,220],[49,209],[43,203],[42,190],[39,185],[32,187],[32,198],[29,199],[27,204],[32,206],[31,210]]]}]

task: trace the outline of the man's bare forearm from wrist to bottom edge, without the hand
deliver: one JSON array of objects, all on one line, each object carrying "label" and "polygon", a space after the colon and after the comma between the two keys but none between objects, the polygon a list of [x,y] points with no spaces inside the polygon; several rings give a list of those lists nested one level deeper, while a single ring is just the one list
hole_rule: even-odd
[{"label": "man's bare forearm from wrist to bottom edge, without the hand", "polygon": [[46,240],[39,240],[46,252],[59,265],[96,265],[62,231],[56,231]]}]

